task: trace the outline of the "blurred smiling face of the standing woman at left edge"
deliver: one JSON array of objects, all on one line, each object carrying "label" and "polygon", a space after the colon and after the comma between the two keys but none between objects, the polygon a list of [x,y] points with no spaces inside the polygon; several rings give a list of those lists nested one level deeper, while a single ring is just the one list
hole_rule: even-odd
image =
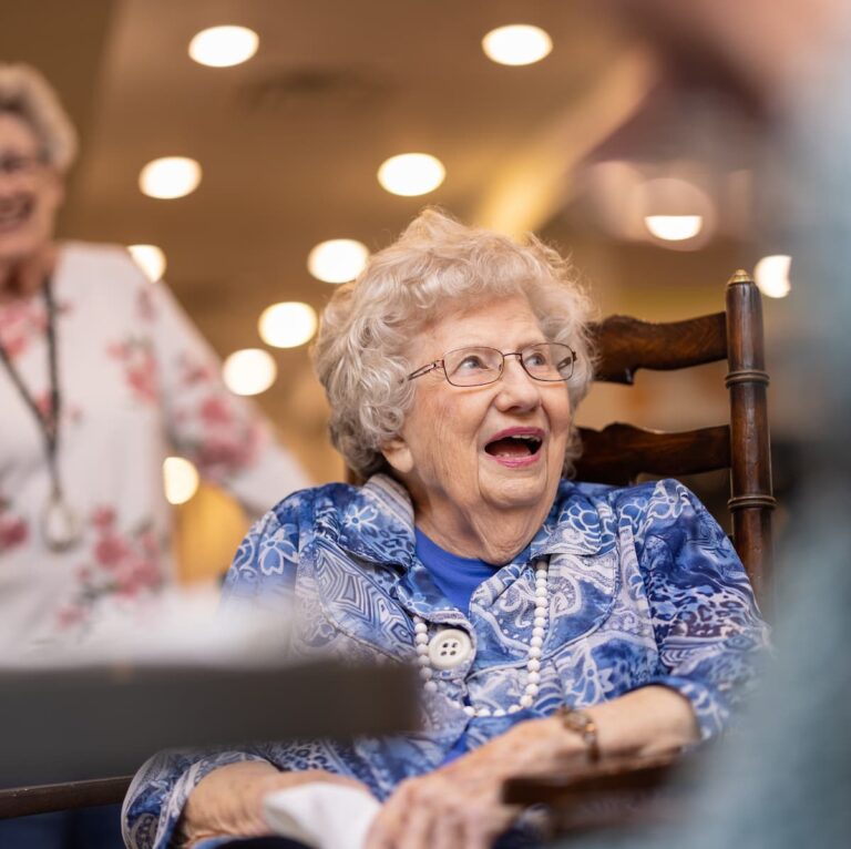
[{"label": "blurred smiling face of the standing woman at left edge", "polygon": [[0,112],[0,262],[25,259],[44,247],[61,202],[61,178],[41,161],[32,129]]}]

